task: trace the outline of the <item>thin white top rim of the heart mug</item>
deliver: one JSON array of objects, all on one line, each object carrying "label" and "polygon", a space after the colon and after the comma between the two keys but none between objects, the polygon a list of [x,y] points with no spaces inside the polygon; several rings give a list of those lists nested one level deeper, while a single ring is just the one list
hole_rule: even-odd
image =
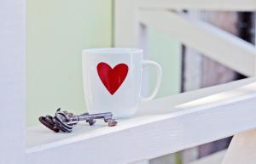
[{"label": "thin white top rim of the heart mug", "polygon": [[84,53],[93,54],[137,54],[143,53],[143,49],[140,48],[88,48],[84,49]]}]

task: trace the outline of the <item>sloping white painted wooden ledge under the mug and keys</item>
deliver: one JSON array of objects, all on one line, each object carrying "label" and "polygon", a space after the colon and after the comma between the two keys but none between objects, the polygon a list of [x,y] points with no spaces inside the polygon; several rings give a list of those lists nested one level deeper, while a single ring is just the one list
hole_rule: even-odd
[{"label": "sloping white painted wooden ledge under the mug and keys", "polygon": [[79,163],[81,159],[85,163],[131,163],[253,129],[254,81],[249,78],[155,99],[117,127],[97,123],[68,134],[30,127],[26,131],[27,164]]}]

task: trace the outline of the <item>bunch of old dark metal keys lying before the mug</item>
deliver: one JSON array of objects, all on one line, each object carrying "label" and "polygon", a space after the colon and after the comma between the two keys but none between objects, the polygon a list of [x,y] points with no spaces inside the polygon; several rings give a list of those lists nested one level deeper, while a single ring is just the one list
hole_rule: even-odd
[{"label": "bunch of old dark metal keys lying before the mug", "polygon": [[84,113],[82,115],[75,116],[73,113],[67,111],[61,111],[61,108],[56,110],[55,116],[40,116],[39,122],[41,122],[45,127],[55,133],[64,132],[71,133],[73,127],[81,121],[88,122],[90,126],[94,125],[96,119],[103,119],[104,122],[108,122],[109,127],[116,126],[118,122],[112,118],[111,112],[92,114]]}]

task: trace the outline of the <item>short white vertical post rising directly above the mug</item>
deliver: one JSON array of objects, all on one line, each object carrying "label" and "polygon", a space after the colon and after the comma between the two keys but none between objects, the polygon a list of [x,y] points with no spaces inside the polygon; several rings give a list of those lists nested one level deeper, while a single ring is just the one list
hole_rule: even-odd
[{"label": "short white vertical post rising directly above the mug", "polygon": [[138,47],[136,0],[114,1],[114,47]]}]

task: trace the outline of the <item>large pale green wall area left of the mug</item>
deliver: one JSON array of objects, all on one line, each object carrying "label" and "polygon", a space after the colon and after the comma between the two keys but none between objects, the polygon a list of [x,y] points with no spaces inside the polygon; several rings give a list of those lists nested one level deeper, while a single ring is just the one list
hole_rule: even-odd
[{"label": "large pale green wall area left of the mug", "polygon": [[84,110],[83,48],[112,45],[111,0],[26,1],[27,125],[55,109]]}]

